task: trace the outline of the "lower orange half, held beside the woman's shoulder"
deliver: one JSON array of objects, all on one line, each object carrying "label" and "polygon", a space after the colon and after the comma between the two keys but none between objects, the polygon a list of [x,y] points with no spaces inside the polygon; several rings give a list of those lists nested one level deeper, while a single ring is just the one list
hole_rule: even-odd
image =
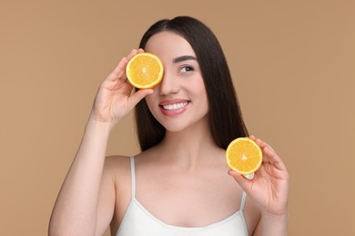
[{"label": "lower orange half, held beside the woman's shoulder", "polygon": [[226,151],[230,169],[252,178],[262,162],[262,151],[258,143],[249,138],[238,138],[229,143]]}]

